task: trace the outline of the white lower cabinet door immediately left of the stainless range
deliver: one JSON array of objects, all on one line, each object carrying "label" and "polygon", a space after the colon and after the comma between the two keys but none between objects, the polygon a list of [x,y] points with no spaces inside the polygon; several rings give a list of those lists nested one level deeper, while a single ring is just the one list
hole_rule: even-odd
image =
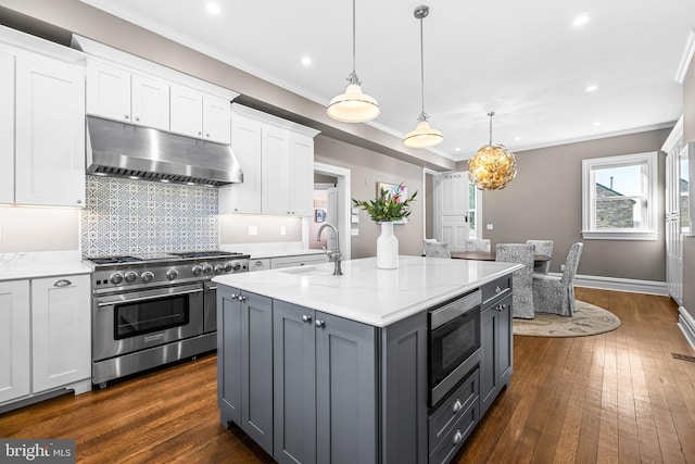
[{"label": "white lower cabinet door immediately left of the stainless range", "polygon": [[91,376],[89,275],[31,280],[34,391]]}]

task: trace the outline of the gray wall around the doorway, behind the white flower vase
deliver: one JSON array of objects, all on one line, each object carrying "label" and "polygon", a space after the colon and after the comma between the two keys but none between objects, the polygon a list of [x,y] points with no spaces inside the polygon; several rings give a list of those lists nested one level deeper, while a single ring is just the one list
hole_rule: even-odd
[{"label": "gray wall around the doorway, behind the white flower vase", "polygon": [[[394,226],[401,254],[422,254],[422,168],[383,154],[323,137],[314,139],[314,159],[317,162],[345,167],[351,171],[351,197],[357,200],[374,200],[377,183],[403,183],[408,195],[418,191],[413,202],[410,221]],[[377,237],[381,226],[374,223],[367,213],[359,212],[359,235],[352,238],[352,258],[375,256]],[[355,224],[353,224],[355,226]]]}]

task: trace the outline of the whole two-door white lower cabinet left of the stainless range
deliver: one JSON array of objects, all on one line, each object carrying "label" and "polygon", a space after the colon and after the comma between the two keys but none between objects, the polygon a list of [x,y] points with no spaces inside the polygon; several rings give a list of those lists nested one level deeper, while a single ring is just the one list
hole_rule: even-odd
[{"label": "whole two-door white lower cabinet left of the stainless range", "polygon": [[0,281],[0,404],[91,388],[88,274]]}]

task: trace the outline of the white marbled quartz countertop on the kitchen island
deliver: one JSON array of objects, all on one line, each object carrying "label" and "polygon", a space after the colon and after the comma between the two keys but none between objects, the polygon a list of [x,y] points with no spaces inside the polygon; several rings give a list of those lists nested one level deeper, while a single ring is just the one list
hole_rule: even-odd
[{"label": "white marbled quartz countertop on the kitchen island", "polygon": [[520,264],[399,256],[397,269],[378,269],[376,258],[213,278],[219,285],[263,294],[340,317],[386,327],[482,284]]}]

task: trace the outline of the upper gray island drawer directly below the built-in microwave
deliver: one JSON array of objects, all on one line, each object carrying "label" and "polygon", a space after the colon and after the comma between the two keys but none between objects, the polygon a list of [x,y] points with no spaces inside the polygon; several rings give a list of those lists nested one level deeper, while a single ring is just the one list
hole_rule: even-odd
[{"label": "upper gray island drawer directly below the built-in microwave", "polygon": [[458,386],[456,391],[430,415],[428,430],[430,451],[451,431],[451,428],[464,415],[468,407],[477,402],[479,393],[480,369],[476,367]]}]

